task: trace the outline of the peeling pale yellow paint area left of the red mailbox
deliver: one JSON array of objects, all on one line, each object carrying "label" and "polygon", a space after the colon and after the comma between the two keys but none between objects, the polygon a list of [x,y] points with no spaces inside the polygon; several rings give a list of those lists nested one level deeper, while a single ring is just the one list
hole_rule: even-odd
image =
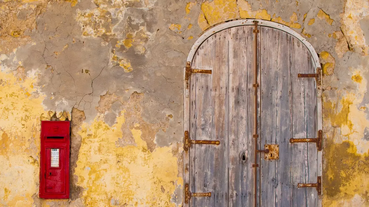
[{"label": "peeling pale yellow paint area left of the red mailbox", "polygon": [[40,119],[51,117],[37,81],[37,71],[21,66],[0,72],[0,206],[32,206],[37,192]]}]

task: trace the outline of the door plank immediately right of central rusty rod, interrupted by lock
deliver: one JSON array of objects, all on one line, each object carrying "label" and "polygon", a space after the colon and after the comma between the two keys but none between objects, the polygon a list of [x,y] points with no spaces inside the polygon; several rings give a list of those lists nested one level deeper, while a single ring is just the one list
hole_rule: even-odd
[{"label": "door plank immediately right of central rusty rod, interrupted by lock", "polygon": [[[276,143],[276,85],[277,80],[277,52],[279,31],[261,27],[261,112],[260,112],[260,139],[261,145]],[[261,158],[260,162],[260,206],[275,206],[276,164]]]}]

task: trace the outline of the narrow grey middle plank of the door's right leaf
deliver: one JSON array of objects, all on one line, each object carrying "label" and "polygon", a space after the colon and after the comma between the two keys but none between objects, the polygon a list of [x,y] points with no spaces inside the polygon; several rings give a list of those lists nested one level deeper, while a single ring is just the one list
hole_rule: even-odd
[{"label": "narrow grey middle plank of the door's right leaf", "polygon": [[292,94],[290,74],[290,50],[292,36],[279,30],[279,47],[277,59],[277,122],[276,144],[279,145],[279,159],[276,162],[277,188],[275,193],[275,206],[287,207],[292,204],[292,176],[291,154],[292,146],[289,144],[292,138]]}]

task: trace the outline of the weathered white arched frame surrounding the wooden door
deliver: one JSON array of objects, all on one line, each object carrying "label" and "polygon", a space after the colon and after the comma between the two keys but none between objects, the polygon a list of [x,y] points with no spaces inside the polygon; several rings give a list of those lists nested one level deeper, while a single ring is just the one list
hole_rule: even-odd
[{"label": "weathered white arched frame surrounding the wooden door", "polygon": [[[275,28],[275,29],[279,29],[281,31],[286,32],[287,34],[290,34],[292,36],[294,36],[295,38],[299,39],[299,41],[301,41],[306,48],[308,49],[308,51],[311,54],[311,59],[312,62],[315,65],[315,72],[317,72],[318,68],[320,69],[320,61],[319,61],[319,57],[318,54],[316,53],[314,47],[303,37],[301,36],[299,33],[297,33],[296,31],[294,31],[293,29],[276,23],[276,22],[272,22],[272,21],[266,21],[266,20],[255,20],[255,19],[243,19],[243,20],[234,20],[234,21],[229,21],[229,22],[223,22],[220,23],[218,25],[215,25],[213,27],[208,28],[206,31],[204,31],[200,37],[196,40],[196,42],[193,44],[189,55],[187,56],[186,62],[192,64],[192,60],[194,58],[194,56],[196,55],[197,49],[201,46],[201,44],[206,41],[206,39],[208,39],[210,36],[214,35],[217,32],[223,31],[224,29],[228,29],[228,28],[232,28],[232,27],[238,27],[238,26],[245,26],[245,25],[254,25],[254,21],[258,22],[258,26],[262,26],[262,27],[270,27],[270,28]],[[319,70],[321,72],[321,70]],[[183,72],[184,76],[186,74],[186,67],[184,67],[184,72]],[[322,74],[321,74],[322,75]],[[186,84],[187,81],[184,80],[184,76],[183,76],[183,87],[184,87],[184,130],[183,131],[189,131],[190,130],[190,97],[189,97],[189,91],[186,90]],[[297,77],[296,77],[297,78]],[[322,117],[322,99],[321,99],[321,85],[317,85],[317,130],[323,130],[323,117]],[[184,134],[183,134],[184,137]],[[324,136],[323,136],[324,137]],[[318,161],[318,176],[322,176],[323,174],[323,165],[322,165],[322,151],[318,151],[318,157],[317,157],[317,161]],[[188,183],[189,180],[189,162],[190,162],[190,157],[189,157],[189,153],[188,151],[183,151],[183,184],[185,185],[186,183]],[[323,180],[322,180],[323,182]],[[322,183],[323,185],[323,183]],[[183,190],[186,190],[185,187],[183,186]],[[323,192],[322,192],[323,194]],[[183,201],[184,201],[184,197],[185,197],[185,192],[183,193]],[[319,199],[318,201],[318,206],[321,206],[321,199]],[[189,207],[189,204],[184,203],[183,202],[183,206],[184,207]]]}]

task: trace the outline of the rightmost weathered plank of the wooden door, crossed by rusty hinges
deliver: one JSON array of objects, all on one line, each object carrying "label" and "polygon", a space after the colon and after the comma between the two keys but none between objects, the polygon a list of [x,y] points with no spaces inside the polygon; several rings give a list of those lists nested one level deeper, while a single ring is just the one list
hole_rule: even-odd
[{"label": "rightmost weathered plank of the wooden door, crossed by rusty hinges", "polygon": [[[293,138],[317,136],[317,94],[314,78],[297,78],[298,73],[314,73],[310,53],[297,39],[292,41],[292,135]],[[294,143],[293,206],[317,206],[315,188],[297,188],[298,183],[317,182],[317,147],[315,143]]]}]

